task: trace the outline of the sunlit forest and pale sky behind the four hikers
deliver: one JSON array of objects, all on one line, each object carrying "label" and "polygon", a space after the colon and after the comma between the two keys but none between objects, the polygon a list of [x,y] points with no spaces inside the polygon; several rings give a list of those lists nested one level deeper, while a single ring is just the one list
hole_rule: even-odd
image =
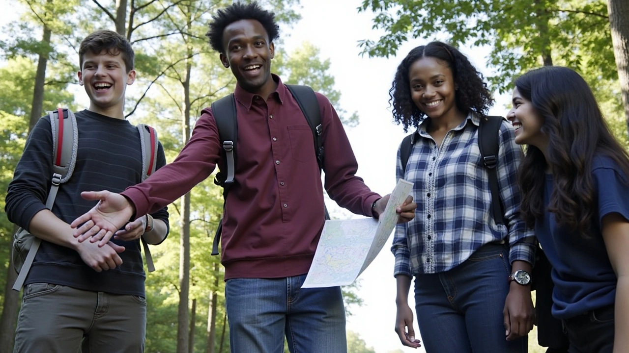
[{"label": "sunlit forest and pale sky behind the four hikers", "polygon": [[[204,36],[211,15],[229,3],[0,0],[0,208],[4,210],[6,185],[28,131],[43,111],[89,104],[77,85],[77,47],[93,30],[116,30],[133,43],[139,79],[127,90],[125,112],[131,122],[158,129],[172,161],[201,109],[235,85]],[[388,109],[392,77],[406,53],[428,40],[448,41],[469,55],[494,90],[494,115],[508,111],[511,82],[520,73],[541,65],[575,68],[628,146],[629,1],[260,3],[281,21],[273,71],[284,82],[311,85],[330,98],[345,122],[359,175],[376,192],[391,192],[395,155],[404,136]],[[333,217],[354,217],[326,202]],[[170,206],[170,235],[152,248],[157,271],[147,276],[147,352],[229,351],[223,270],[218,257],[209,256],[221,207],[221,190],[210,179]],[[12,351],[20,301],[10,289],[13,232],[1,212],[0,353]],[[350,353],[416,351],[401,347],[393,332],[392,264],[384,249],[359,281],[343,290]],[[533,332],[530,351],[542,352],[535,343]]]}]

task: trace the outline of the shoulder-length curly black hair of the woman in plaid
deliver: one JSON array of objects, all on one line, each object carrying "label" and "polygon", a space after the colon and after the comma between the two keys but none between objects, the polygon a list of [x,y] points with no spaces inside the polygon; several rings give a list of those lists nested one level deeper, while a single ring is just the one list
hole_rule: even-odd
[{"label": "shoulder-length curly black hair of the woman in plaid", "polygon": [[483,82],[482,73],[478,72],[454,46],[440,41],[431,41],[427,45],[420,45],[411,50],[406,58],[398,65],[395,79],[389,89],[389,105],[392,106],[393,119],[403,124],[404,132],[409,127],[417,128],[425,119],[424,114],[411,100],[411,86],[409,69],[413,63],[423,57],[431,57],[445,63],[454,77],[454,83],[459,87],[455,94],[455,102],[459,111],[467,114],[470,110],[485,115],[494,103],[487,84]]}]

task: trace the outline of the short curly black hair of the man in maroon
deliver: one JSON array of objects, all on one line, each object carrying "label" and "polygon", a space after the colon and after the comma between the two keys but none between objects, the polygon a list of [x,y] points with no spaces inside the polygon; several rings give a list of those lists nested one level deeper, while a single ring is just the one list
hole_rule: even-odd
[{"label": "short curly black hair of the man in maroon", "polygon": [[225,9],[216,11],[216,14],[212,16],[212,21],[209,23],[209,31],[205,35],[209,37],[209,45],[216,52],[225,54],[223,31],[231,23],[241,19],[255,19],[261,23],[269,35],[269,42],[279,38],[279,26],[275,21],[274,13],[262,9],[255,1],[250,4],[237,2],[227,6]]}]

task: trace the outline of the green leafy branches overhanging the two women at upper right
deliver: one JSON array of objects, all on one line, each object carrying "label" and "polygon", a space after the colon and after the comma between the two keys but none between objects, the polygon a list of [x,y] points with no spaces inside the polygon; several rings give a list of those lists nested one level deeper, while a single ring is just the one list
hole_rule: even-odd
[{"label": "green leafy branches overhanging the two women at upper right", "polygon": [[453,45],[489,46],[496,75],[488,79],[501,92],[548,58],[617,77],[604,0],[364,0],[359,11],[373,11],[374,28],[386,32],[360,42],[370,56],[389,57],[411,38],[438,35]]}]

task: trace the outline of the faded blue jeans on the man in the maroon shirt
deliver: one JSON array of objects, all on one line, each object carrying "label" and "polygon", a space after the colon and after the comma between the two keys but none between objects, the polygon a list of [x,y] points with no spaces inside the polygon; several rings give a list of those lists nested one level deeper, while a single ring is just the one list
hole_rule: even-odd
[{"label": "faded blue jeans on the man in the maroon shirt", "polygon": [[225,301],[233,353],[344,353],[345,307],[340,287],[300,288],[306,275],[233,278]]}]

